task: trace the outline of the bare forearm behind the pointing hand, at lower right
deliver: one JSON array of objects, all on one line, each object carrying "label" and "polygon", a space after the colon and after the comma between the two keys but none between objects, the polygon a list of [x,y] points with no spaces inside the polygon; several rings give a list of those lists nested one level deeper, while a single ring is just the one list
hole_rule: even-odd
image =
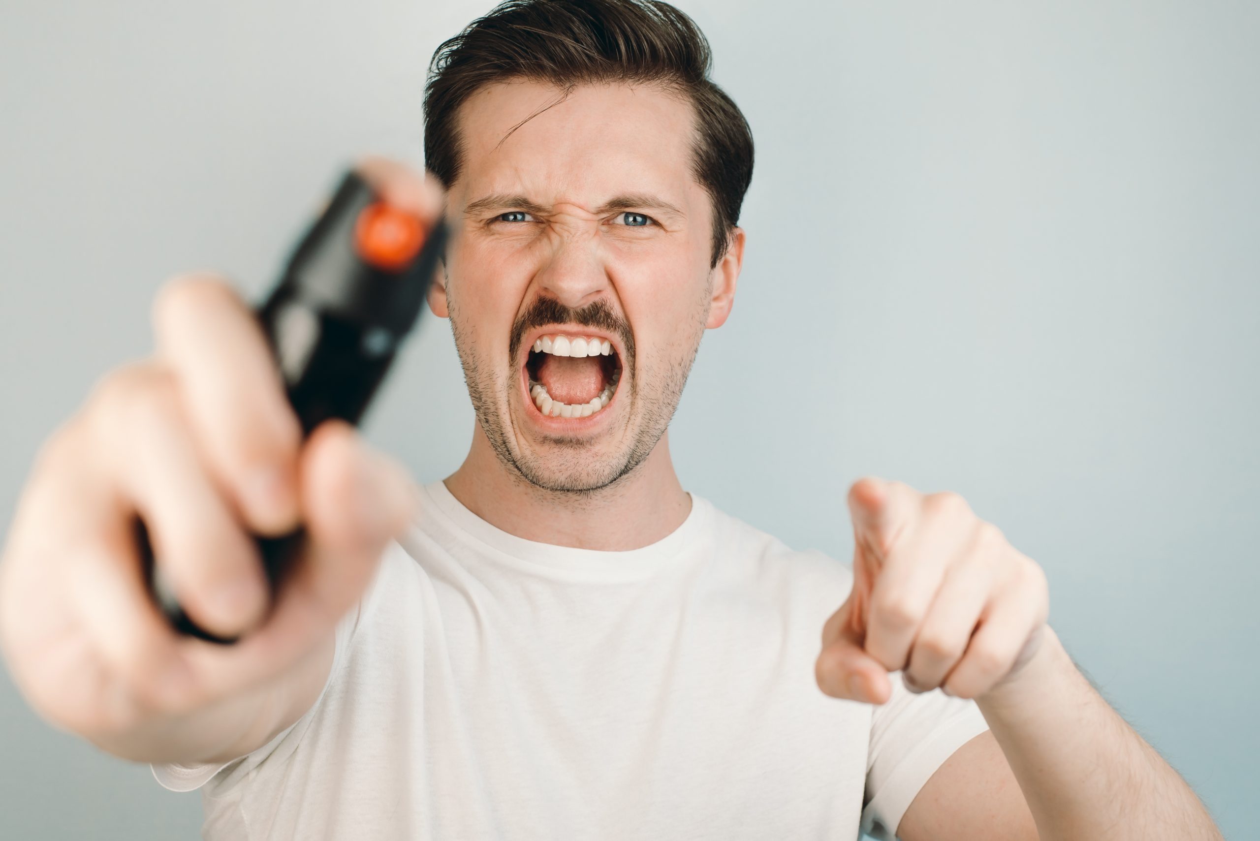
[{"label": "bare forearm behind the pointing hand, at lower right", "polygon": [[1027,666],[976,699],[1042,841],[1220,841],[1189,786],[1045,635]]}]

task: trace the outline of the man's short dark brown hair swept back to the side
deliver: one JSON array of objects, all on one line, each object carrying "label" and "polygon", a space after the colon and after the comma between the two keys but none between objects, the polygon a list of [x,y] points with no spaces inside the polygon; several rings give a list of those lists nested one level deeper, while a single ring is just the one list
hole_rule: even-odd
[{"label": "man's short dark brown hair swept back to the side", "polygon": [[712,53],[685,14],[660,0],[507,0],[446,40],[425,87],[425,165],[450,188],[460,171],[460,106],[508,79],[662,84],[696,112],[692,172],[713,201],[712,264],[726,253],[752,180],[752,131],[709,81]]}]

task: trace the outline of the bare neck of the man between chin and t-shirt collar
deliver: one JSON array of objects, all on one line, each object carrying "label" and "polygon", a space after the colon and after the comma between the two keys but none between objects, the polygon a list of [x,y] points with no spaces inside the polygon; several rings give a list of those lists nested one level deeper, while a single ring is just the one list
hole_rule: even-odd
[{"label": "bare neck of the man between chin and t-shirt collar", "polygon": [[669,433],[631,473],[586,494],[530,485],[495,456],[476,426],[472,447],[446,488],[490,525],[525,540],[576,549],[641,549],[670,534],[692,510],[669,458]]}]

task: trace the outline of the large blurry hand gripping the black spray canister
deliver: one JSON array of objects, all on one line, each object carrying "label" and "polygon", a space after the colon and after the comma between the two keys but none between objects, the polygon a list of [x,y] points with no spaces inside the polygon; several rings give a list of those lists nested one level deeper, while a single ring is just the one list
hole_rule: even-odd
[{"label": "large blurry hand gripping the black spray canister", "polygon": [[[360,171],[436,215],[418,178],[379,160]],[[44,719],[112,753],[231,758],[315,700],[333,628],[415,497],[348,424],[301,439],[258,322],[223,281],[169,283],[154,325],[154,358],[108,374],[35,461],[0,559],[0,651]],[[137,514],[190,618],[237,643],[171,631]],[[251,535],[299,522],[307,549],[272,599]]]}]

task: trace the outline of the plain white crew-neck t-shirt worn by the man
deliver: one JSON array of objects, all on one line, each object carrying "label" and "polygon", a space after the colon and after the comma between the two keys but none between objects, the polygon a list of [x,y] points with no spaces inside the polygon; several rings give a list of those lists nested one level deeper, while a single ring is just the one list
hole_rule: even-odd
[{"label": "plain white crew-neck t-shirt worn by the man", "polygon": [[522,540],[423,488],[311,709],[202,789],[205,838],[892,838],[987,724],[814,680],[848,565],[692,497],[633,551]]}]

